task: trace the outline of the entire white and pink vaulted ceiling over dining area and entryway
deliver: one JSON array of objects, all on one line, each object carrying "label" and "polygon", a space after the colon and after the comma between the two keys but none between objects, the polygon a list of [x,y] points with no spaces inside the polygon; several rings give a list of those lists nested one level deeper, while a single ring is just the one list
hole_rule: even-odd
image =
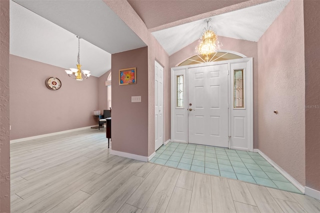
[{"label": "entire white and pink vaulted ceiling over dining area and entryway", "polygon": [[[289,0],[128,0],[169,55],[192,43],[209,23],[217,35],[257,41]],[[121,1],[119,1],[120,3]],[[10,53],[75,67],[80,36],[83,69],[100,76],[111,54],[145,43],[102,0],[10,2]]]}]

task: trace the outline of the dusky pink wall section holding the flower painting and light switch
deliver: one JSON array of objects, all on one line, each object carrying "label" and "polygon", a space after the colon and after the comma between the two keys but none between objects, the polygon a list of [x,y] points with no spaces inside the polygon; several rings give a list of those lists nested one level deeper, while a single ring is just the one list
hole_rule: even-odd
[{"label": "dusky pink wall section holding the flower painting and light switch", "polygon": [[[148,156],[147,47],[111,55],[112,150]],[[119,69],[136,67],[136,83],[119,85]],[[141,96],[141,102],[131,102]]]}]

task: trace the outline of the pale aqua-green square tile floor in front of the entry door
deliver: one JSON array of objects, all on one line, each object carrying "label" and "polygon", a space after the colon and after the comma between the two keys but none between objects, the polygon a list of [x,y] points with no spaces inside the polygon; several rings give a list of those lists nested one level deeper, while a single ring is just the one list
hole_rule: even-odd
[{"label": "pale aqua-green square tile floor in front of the entry door", "polygon": [[150,162],[301,193],[257,152],[169,142]]}]

